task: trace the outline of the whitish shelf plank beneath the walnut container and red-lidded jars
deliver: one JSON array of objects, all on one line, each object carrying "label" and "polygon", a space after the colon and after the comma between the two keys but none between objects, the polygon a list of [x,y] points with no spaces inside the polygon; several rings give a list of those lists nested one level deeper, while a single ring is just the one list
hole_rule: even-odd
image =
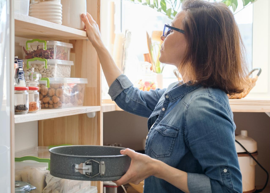
[{"label": "whitish shelf plank beneath the walnut container and red-lidded jars", "polygon": [[25,115],[15,115],[15,123],[24,123],[30,121],[38,121],[44,119],[51,119],[57,117],[65,117],[77,114],[84,114],[90,112],[100,111],[100,106],[79,106],[73,108],[64,108],[64,109],[42,109],[37,113],[27,113]]}]

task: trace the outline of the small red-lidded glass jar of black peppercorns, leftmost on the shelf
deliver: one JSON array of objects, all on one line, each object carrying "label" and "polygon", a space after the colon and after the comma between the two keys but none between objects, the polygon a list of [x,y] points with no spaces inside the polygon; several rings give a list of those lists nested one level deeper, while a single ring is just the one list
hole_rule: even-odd
[{"label": "small red-lidded glass jar of black peppercorns, leftmost on the shelf", "polygon": [[26,114],[29,109],[28,87],[14,87],[15,114]]}]

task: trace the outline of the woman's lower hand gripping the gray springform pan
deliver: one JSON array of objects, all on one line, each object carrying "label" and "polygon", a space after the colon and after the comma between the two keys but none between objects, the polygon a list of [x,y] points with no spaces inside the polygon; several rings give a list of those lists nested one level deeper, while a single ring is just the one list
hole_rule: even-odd
[{"label": "woman's lower hand gripping the gray springform pan", "polygon": [[121,150],[122,155],[127,155],[131,158],[131,164],[127,173],[117,181],[113,181],[118,186],[122,184],[139,184],[145,178],[157,173],[155,162],[157,160],[150,158],[147,155],[134,152],[130,149]]}]

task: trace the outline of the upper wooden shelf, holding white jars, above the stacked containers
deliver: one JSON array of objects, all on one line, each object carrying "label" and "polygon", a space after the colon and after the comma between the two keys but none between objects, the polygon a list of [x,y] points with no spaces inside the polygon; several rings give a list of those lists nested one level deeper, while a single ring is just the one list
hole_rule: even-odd
[{"label": "upper wooden shelf, holding white jars, above the stacked containers", "polygon": [[86,32],[35,17],[14,13],[15,36],[29,39],[88,39]]}]

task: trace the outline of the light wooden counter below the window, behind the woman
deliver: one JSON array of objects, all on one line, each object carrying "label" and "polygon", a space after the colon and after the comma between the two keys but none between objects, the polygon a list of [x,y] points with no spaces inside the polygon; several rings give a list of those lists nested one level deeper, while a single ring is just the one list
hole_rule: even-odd
[{"label": "light wooden counter below the window, behind the woman", "polygon": [[[232,112],[270,112],[270,99],[229,99]],[[112,100],[102,100],[102,112],[123,111]]]}]

